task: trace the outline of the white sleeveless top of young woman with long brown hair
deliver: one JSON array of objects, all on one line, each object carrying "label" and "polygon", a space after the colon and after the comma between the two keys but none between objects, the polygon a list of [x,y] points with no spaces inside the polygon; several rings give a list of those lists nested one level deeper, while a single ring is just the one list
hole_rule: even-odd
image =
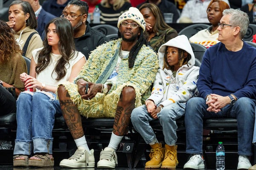
[{"label": "white sleeveless top of young woman with long brown hair", "polygon": [[[32,51],[33,59],[35,60],[36,64],[38,63],[38,56],[36,55],[36,53],[41,49],[42,48],[38,48]],[[54,69],[55,69],[55,65],[57,65],[58,59],[61,58],[61,55],[50,53],[50,57],[51,57],[51,60],[49,62],[49,65],[47,66],[46,69],[44,69],[43,71],[41,71],[39,74],[36,75],[36,79],[39,82],[44,83],[46,85],[57,87],[58,84],[60,84],[61,82],[68,81],[68,79],[70,78],[73,65],[75,65],[76,62],[78,62],[81,58],[83,58],[84,54],[82,54],[79,51],[75,51],[74,56],[69,60],[69,64],[67,63],[65,65],[65,68],[67,69],[66,75],[58,81],[56,80],[57,73],[54,71]],[[86,60],[85,57],[84,59]]]}]

